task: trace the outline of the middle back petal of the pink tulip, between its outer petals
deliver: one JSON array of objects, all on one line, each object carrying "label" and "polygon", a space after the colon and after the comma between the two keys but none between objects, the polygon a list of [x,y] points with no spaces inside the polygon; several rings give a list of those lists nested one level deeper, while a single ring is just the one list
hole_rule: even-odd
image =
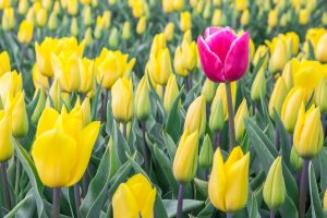
[{"label": "middle back petal of the pink tulip, between its outer petals", "polygon": [[233,34],[229,27],[226,27],[209,35],[206,38],[206,43],[208,44],[210,50],[215,52],[223,63],[230,46],[235,38],[237,35]]}]

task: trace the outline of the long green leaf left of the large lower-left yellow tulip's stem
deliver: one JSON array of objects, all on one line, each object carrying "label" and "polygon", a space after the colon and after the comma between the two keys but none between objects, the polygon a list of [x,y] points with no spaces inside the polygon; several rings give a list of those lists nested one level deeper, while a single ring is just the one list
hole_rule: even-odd
[{"label": "long green leaf left of the large lower-left yellow tulip's stem", "polygon": [[29,182],[32,183],[33,195],[34,195],[36,206],[37,206],[38,217],[47,217],[47,215],[45,213],[44,201],[41,197],[41,193],[44,191],[44,185],[38,178],[36,168],[34,166],[31,157],[28,156],[26,150],[20,145],[19,142],[14,141],[14,147],[15,147],[17,158],[22,162],[22,166],[28,175]]}]

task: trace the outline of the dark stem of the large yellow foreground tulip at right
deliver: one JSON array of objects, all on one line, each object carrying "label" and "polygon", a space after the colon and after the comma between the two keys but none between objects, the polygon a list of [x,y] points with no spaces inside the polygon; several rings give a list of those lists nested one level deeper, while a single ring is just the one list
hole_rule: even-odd
[{"label": "dark stem of the large yellow foreground tulip at right", "polygon": [[300,218],[305,216],[305,204],[306,204],[306,192],[307,192],[307,180],[308,180],[308,165],[310,160],[303,160],[303,169],[300,184],[300,202],[299,202],[299,211]]}]

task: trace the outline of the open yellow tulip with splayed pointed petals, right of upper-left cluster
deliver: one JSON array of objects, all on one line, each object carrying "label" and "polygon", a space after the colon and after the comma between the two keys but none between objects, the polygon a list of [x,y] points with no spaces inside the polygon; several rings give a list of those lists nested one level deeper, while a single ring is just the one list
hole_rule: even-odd
[{"label": "open yellow tulip with splayed pointed petals, right of upper-left cluster", "polygon": [[102,82],[102,87],[110,89],[116,81],[120,77],[129,77],[135,59],[128,61],[129,55],[123,55],[121,51],[111,51],[102,49],[100,56],[95,60],[97,68],[97,82]]}]

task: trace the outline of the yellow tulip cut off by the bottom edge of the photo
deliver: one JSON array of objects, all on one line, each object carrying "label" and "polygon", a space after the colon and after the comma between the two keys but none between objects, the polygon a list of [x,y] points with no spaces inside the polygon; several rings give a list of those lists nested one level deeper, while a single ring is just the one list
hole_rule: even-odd
[{"label": "yellow tulip cut off by the bottom edge of the photo", "polygon": [[143,174],[121,183],[112,197],[113,218],[154,218],[157,190]]}]

